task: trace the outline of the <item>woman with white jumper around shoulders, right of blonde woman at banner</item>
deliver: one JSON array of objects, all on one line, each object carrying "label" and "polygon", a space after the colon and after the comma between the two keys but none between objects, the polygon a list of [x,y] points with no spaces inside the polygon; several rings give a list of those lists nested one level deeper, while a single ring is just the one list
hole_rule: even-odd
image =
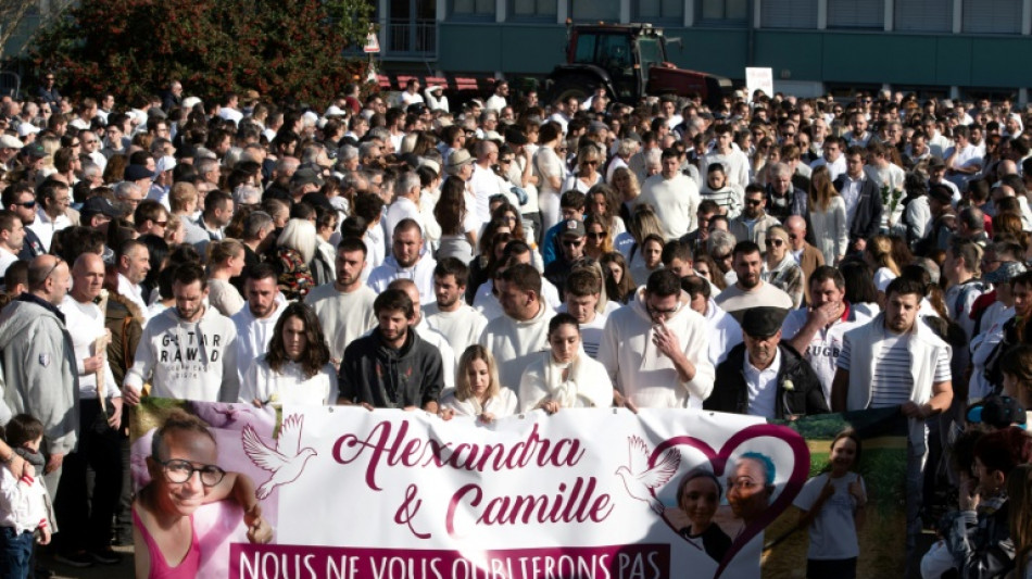
[{"label": "woman with white jumper around shoulders, right of blonde woman at banner", "polygon": [[520,412],[542,408],[555,414],[559,408],[613,404],[613,382],[605,366],[584,352],[576,317],[562,313],[549,322],[549,347],[531,360],[519,380]]}]

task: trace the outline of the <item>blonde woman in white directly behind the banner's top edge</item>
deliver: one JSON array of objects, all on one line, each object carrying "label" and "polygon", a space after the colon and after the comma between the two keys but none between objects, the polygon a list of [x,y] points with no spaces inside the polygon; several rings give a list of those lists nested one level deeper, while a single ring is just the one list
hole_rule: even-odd
[{"label": "blonde woman in white directly behind the banner's top edge", "polygon": [[499,383],[494,356],[480,344],[473,344],[458,358],[455,388],[441,399],[440,416],[476,416],[486,424],[516,414],[516,393]]}]

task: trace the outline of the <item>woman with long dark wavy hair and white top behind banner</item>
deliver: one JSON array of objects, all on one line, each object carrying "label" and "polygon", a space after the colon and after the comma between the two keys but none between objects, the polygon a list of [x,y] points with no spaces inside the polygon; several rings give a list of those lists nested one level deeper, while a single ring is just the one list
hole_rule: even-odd
[{"label": "woman with long dark wavy hair and white top behind banner", "polygon": [[240,386],[240,402],[320,406],[337,401],[337,370],[319,318],[311,306],[288,305],[268,343],[268,352],[251,362]]}]

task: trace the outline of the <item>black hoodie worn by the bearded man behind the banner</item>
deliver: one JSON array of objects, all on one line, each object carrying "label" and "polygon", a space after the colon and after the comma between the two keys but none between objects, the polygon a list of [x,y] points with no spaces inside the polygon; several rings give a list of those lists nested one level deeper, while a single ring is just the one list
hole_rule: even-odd
[{"label": "black hoodie worn by the bearded man behind the banner", "polygon": [[389,348],[379,328],[351,342],[338,376],[340,398],[377,408],[424,407],[444,389],[441,352],[408,328],[400,350]]}]

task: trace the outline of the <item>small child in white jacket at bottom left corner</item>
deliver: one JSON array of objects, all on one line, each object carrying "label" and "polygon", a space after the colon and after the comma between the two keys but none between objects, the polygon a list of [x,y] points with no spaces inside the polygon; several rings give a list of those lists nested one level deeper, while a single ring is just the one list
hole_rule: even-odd
[{"label": "small child in white jacket at bottom left corner", "polygon": [[43,425],[27,414],[11,418],[4,428],[4,440],[36,467],[36,478],[21,479],[0,468],[0,577],[27,579],[33,571],[33,540],[39,531],[39,544],[50,543],[50,520],[53,513],[43,487]]}]

